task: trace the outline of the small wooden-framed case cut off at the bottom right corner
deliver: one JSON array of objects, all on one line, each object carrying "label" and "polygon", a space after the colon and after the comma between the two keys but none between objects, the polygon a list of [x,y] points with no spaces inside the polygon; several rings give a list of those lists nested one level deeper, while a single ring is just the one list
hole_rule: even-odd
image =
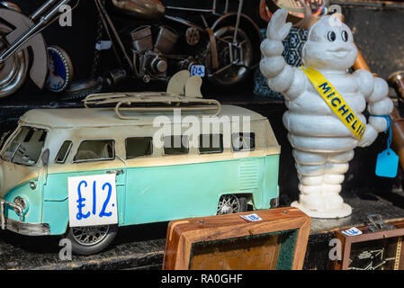
[{"label": "small wooden-framed case cut off at the bottom right corner", "polygon": [[347,236],[346,229],[334,233],[340,240],[341,260],[334,260],[335,270],[403,270],[404,220],[390,221],[394,229],[374,232],[368,226],[357,227],[363,234]]}]

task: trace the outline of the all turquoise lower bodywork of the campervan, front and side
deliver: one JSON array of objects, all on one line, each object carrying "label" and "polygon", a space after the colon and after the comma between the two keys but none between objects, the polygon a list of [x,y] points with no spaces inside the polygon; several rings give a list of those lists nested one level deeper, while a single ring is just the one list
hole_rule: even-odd
[{"label": "all turquoise lower bodywork of the campervan, front and side", "polygon": [[[123,166],[117,175],[119,225],[214,215],[220,195],[247,194],[256,210],[270,208],[277,198],[279,155],[247,157],[175,166]],[[51,235],[66,232],[67,178],[104,174],[104,170],[49,174],[32,190],[29,182],[13,188],[5,200],[22,196],[29,202],[24,221],[48,223]],[[19,220],[12,210],[6,216]]]}]

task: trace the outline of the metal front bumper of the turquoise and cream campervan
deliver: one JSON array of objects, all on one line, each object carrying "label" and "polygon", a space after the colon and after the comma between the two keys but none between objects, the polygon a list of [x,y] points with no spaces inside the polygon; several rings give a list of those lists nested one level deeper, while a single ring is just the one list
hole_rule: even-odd
[{"label": "metal front bumper of the turquoise and cream campervan", "polygon": [[[16,213],[20,216],[20,220],[13,220],[5,217],[4,211],[5,206],[12,207]],[[44,236],[50,235],[50,228],[48,224],[41,223],[27,223],[22,221],[22,207],[16,203],[7,202],[4,199],[0,199],[0,209],[1,209],[1,228],[8,229],[15,233],[19,233],[27,236]]]}]

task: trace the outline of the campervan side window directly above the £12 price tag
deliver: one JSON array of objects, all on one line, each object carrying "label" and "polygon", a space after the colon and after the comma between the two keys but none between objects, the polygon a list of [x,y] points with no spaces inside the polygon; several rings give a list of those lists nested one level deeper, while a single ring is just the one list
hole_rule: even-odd
[{"label": "campervan side window directly above the \u00a312 price tag", "polygon": [[113,140],[85,140],[77,149],[74,162],[103,161],[115,158]]}]

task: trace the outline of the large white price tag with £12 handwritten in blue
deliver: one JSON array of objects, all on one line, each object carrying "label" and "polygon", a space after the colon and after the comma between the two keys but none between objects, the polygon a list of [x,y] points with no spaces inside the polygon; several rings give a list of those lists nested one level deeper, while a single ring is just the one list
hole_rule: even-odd
[{"label": "large white price tag with \u00a312 handwritten in blue", "polygon": [[68,177],[70,227],[118,223],[116,175]]}]

